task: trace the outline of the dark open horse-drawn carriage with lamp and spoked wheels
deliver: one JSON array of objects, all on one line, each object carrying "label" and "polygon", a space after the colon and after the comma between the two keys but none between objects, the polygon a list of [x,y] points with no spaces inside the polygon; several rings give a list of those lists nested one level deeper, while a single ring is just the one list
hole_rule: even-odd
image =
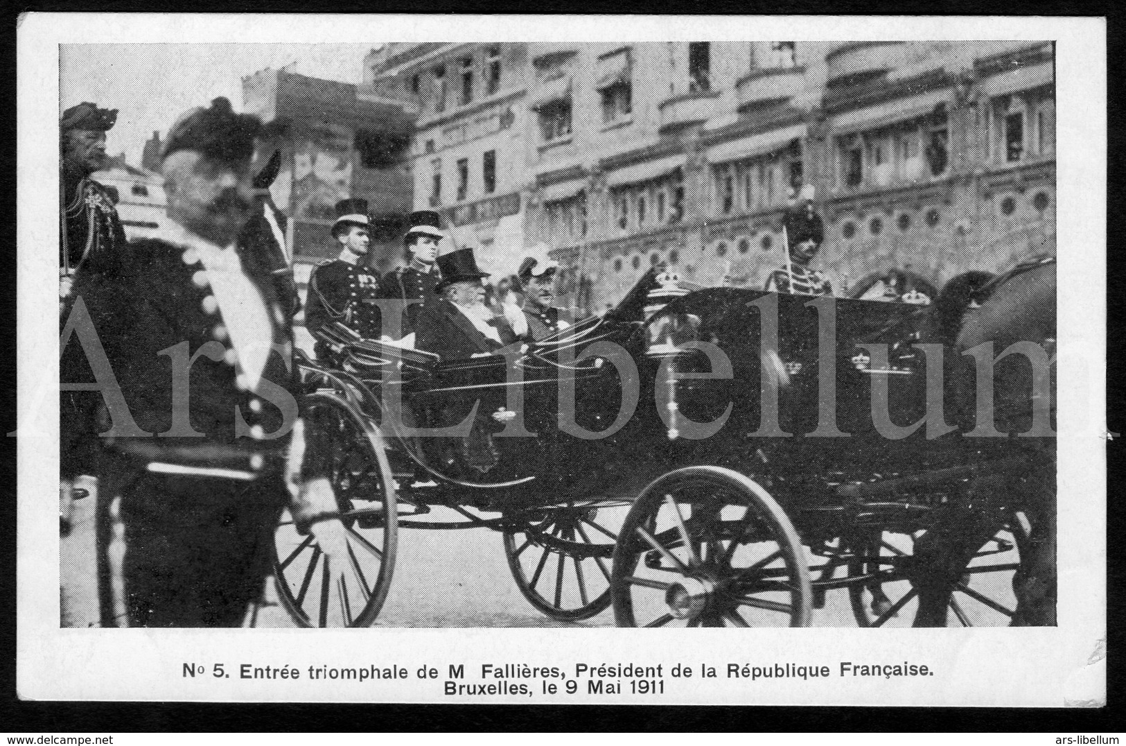
[{"label": "dark open horse-drawn carriage with lamp and spoked wheels", "polygon": [[984,379],[932,309],[717,287],[654,310],[659,285],[504,355],[328,330],[334,363],[302,365],[347,557],[283,521],[294,618],[369,625],[400,529],[485,527],[557,620],[801,627],[840,589],[865,627],[1011,621],[1054,443],[965,436]]}]

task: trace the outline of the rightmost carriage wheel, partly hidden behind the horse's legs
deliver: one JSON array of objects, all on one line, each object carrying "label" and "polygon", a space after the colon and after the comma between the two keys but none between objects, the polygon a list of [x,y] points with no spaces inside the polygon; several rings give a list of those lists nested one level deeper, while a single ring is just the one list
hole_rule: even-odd
[{"label": "rightmost carriage wheel, partly hidden behind the horse's legs", "polygon": [[[928,583],[927,568],[915,556],[917,543],[926,541],[924,532],[914,534],[875,531],[854,542],[851,550],[860,556],[849,563],[849,575],[876,577],[849,586],[852,614],[860,627],[1004,627],[1012,620],[1016,601],[1011,577],[1020,565],[1029,535],[1028,521],[1016,514],[1007,524],[973,550],[963,570],[949,576],[948,583],[932,586],[930,593],[920,588]],[[875,558],[879,557],[879,560]]]}]

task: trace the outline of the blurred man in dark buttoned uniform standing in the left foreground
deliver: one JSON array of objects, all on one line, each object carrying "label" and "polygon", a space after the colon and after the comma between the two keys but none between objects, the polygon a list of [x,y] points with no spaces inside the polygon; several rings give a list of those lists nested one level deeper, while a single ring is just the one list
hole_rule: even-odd
[{"label": "blurred man in dark buttoned uniform standing in the left foreground", "polygon": [[[99,490],[119,497],[124,542],[119,580],[101,588],[124,593],[102,596],[104,625],[239,625],[271,572],[288,494],[322,544],[343,531],[323,430],[295,398],[289,320],[235,246],[260,126],[225,98],[181,116],[162,152],[170,220],[75,277],[63,381],[99,387],[98,415],[80,424],[102,446]],[[71,467],[64,453],[64,478]]]}]

